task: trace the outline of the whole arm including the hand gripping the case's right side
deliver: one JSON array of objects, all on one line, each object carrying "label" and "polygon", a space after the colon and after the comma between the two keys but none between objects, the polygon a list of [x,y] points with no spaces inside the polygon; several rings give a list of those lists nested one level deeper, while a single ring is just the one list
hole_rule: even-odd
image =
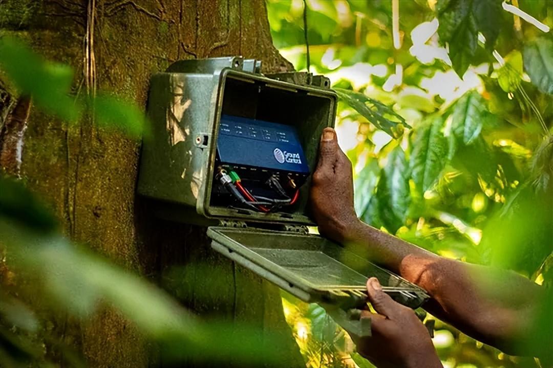
[{"label": "whole arm including the hand gripping the case's right side", "polygon": [[321,140],[311,204],[321,234],[426,290],[431,300],[425,308],[436,317],[506,353],[540,353],[531,350],[539,344],[525,342],[545,298],[543,289],[510,271],[439,257],[361,222],[353,209],[351,163],[332,129]]}]

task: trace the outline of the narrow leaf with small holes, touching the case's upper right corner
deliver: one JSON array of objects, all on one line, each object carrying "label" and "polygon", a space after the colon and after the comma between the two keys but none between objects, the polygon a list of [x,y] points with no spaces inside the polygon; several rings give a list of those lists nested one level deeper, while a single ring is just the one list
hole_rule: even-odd
[{"label": "narrow leaf with small holes, touching the case's upper right corner", "polygon": [[394,138],[399,138],[403,134],[405,126],[410,127],[401,115],[363,93],[343,88],[335,88],[334,90],[340,99],[355,109],[371,124]]}]

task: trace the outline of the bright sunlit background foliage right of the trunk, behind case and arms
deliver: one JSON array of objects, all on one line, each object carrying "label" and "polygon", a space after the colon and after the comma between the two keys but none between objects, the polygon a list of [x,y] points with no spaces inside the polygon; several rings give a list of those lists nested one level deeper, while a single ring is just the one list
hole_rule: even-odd
[{"label": "bright sunlit background foliage right of the trunk, behind case and arms", "polygon": [[[338,92],[338,141],[364,222],[551,287],[552,2],[267,5],[280,53],[297,70],[325,74]],[[322,308],[283,300],[307,366],[372,366]],[[539,366],[441,321],[436,328],[445,367]]]}]

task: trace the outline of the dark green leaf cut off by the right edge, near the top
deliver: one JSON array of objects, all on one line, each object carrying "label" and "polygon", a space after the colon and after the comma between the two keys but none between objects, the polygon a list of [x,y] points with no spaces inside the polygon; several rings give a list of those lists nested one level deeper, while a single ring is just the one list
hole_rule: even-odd
[{"label": "dark green leaf cut off by the right edge, near the top", "polygon": [[526,42],[522,53],[532,83],[544,93],[553,93],[553,40],[542,36]]}]

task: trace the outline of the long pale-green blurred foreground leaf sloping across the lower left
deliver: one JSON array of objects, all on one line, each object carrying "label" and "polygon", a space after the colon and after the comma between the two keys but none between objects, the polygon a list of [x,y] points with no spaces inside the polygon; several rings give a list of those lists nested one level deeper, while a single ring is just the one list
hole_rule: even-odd
[{"label": "long pale-green blurred foreground leaf sloping across the lower left", "polygon": [[[280,336],[265,333],[267,344],[259,345],[254,339],[259,328],[247,324],[238,327],[233,321],[202,321],[131,271],[72,244],[51,227],[49,232],[41,231],[42,222],[34,226],[36,221],[25,221],[31,216],[28,212],[48,211],[38,201],[27,204],[35,197],[20,182],[0,180],[0,193],[7,193],[6,183],[19,185],[20,189],[12,190],[15,197],[11,201],[0,198],[0,249],[11,270],[35,280],[33,292],[50,301],[52,307],[64,306],[74,316],[86,318],[105,303],[160,343],[174,359],[228,361],[232,357],[234,361],[263,364],[278,361],[278,346],[283,346]],[[6,210],[18,202],[24,204],[19,212]]]}]

